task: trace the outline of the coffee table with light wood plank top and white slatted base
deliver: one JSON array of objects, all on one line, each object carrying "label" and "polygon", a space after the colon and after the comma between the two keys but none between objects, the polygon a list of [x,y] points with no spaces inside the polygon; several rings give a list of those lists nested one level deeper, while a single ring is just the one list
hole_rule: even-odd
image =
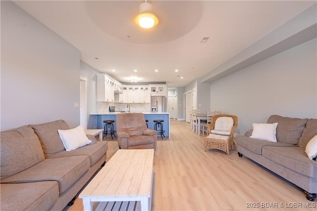
[{"label": "coffee table with light wood plank top and white slatted base", "polygon": [[139,205],[141,211],[150,211],[153,157],[153,149],[119,149],[79,194],[84,211],[92,211],[93,202],[101,202],[97,210],[115,207],[115,202],[118,208]]}]

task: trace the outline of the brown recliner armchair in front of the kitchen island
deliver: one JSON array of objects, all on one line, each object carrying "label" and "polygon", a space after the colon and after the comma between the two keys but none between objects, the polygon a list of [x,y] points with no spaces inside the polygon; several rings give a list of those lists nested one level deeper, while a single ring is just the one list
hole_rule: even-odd
[{"label": "brown recliner armchair in front of the kitchen island", "polygon": [[116,115],[119,149],[157,149],[158,131],[147,128],[143,113]]}]

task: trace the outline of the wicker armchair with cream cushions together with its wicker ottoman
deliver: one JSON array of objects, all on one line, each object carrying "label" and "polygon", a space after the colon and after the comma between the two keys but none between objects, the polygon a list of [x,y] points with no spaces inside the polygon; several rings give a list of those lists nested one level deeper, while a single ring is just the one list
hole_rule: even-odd
[{"label": "wicker armchair with cream cushions together with its wicker ottoman", "polygon": [[233,133],[237,126],[237,116],[227,114],[212,116],[211,133],[205,138],[205,151],[207,149],[218,149],[229,155],[230,149],[234,149]]}]

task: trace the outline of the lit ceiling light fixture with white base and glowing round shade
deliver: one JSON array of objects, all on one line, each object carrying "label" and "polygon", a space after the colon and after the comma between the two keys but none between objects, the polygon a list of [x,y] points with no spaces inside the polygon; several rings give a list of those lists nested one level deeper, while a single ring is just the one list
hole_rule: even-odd
[{"label": "lit ceiling light fixture with white base and glowing round shade", "polygon": [[136,24],[144,29],[150,29],[156,26],[159,23],[159,19],[152,13],[152,10],[152,4],[148,3],[147,0],[141,3],[139,6],[140,13],[135,18]]}]

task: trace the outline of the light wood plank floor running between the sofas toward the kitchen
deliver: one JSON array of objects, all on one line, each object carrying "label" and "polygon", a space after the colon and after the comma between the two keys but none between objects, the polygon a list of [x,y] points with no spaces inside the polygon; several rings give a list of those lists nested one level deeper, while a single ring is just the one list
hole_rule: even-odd
[{"label": "light wood plank floor running between the sofas toward the kitchen", "polygon": [[[107,160],[118,150],[110,138]],[[171,119],[170,137],[158,137],[154,154],[153,211],[316,211],[297,186],[236,150],[204,151],[204,136]],[[81,199],[64,211],[82,211]]]}]

